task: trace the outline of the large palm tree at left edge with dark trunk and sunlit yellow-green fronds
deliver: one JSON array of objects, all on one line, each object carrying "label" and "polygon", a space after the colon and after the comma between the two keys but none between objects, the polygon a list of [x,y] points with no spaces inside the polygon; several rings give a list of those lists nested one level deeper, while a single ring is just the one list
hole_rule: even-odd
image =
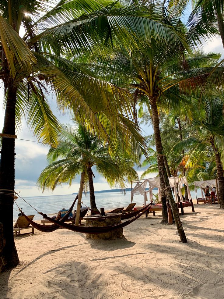
[{"label": "large palm tree at left edge with dark trunk and sunlit yellow-green fronds", "polygon": [[[72,109],[76,119],[89,122],[112,151],[131,147],[140,160],[144,139],[131,121],[127,91],[65,59],[78,58],[93,47],[100,51],[102,44],[110,45],[114,39],[131,40],[133,45],[142,47],[145,40],[154,38],[153,34],[157,40],[172,45],[182,41],[182,35],[160,22],[150,9],[141,9],[137,2],[125,4],[122,7],[120,3],[107,2],[105,6],[98,0],[61,0],[52,8],[44,0],[0,1],[0,73],[5,85],[3,133],[15,136],[21,117],[28,113],[34,134],[56,145],[58,123],[45,96],[50,90],[56,94],[61,109]],[[19,32],[23,30],[21,38]],[[0,189],[11,190],[0,197],[0,221],[6,239],[5,269],[19,263],[12,233],[14,148],[13,138],[2,140]]]}]

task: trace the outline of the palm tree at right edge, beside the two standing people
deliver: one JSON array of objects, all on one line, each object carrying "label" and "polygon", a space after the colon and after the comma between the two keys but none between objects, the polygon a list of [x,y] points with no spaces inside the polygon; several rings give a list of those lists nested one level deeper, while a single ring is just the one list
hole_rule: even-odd
[{"label": "palm tree at right edge, beside the two standing people", "polygon": [[186,166],[198,164],[201,155],[208,156],[208,162],[215,161],[219,182],[220,208],[224,208],[224,119],[222,115],[223,101],[214,96],[204,99],[206,117],[203,121],[194,120],[191,136],[174,146],[174,151],[188,150]]}]

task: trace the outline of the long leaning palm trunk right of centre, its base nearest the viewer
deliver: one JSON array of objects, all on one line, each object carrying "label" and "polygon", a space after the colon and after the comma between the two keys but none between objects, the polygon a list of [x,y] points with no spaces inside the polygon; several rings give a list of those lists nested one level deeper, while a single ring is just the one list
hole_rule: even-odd
[{"label": "long leaning palm trunk right of centre, its base nearest the viewer", "polygon": [[182,223],[180,221],[177,205],[173,199],[172,190],[170,188],[169,179],[168,179],[166,167],[164,164],[163,147],[162,147],[160,130],[159,130],[159,115],[158,115],[158,108],[157,108],[157,103],[156,103],[157,97],[149,97],[149,101],[150,101],[151,112],[152,112],[152,124],[153,124],[153,130],[154,130],[154,135],[155,135],[158,167],[160,169],[160,173],[162,173],[162,175],[163,175],[163,180],[164,180],[165,186],[166,186],[166,196],[167,196],[167,199],[169,200],[170,207],[173,212],[173,218],[174,218],[175,224],[177,226],[177,231],[180,236],[180,241],[183,243],[187,243],[187,238],[185,236]]}]

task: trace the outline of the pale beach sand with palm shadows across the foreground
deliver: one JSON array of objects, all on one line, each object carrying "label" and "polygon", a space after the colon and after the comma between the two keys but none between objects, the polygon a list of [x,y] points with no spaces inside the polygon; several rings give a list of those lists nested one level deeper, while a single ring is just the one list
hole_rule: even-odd
[{"label": "pale beach sand with palm shadows across the foreground", "polygon": [[127,241],[87,241],[65,229],[15,239],[20,265],[1,274],[1,298],[224,298],[224,211],[194,205],[188,243],[161,217],[124,228]]}]

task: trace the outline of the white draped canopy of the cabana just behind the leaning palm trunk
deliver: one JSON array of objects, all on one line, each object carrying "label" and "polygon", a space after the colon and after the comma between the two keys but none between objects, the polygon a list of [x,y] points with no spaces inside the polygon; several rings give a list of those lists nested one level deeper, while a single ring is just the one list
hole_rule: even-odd
[{"label": "white draped canopy of the cabana just behind the leaning palm trunk", "polygon": [[[154,188],[158,188],[158,195],[159,201],[161,201],[161,193],[160,193],[160,182],[159,177],[149,178],[145,180],[133,181],[136,183],[135,187],[131,190],[131,201],[133,200],[134,194],[142,194],[144,195],[144,204],[146,205],[147,193],[149,193],[150,200],[152,201],[152,190]],[[186,177],[178,178],[178,177],[171,177],[169,178],[170,187],[173,188],[174,197],[176,202],[178,203],[178,195],[180,196],[181,201],[183,201],[181,188],[183,188],[183,184],[187,186],[187,194],[188,198],[191,198],[190,189],[188,187]],[[178,186],[178,194],[177,194],[177,186]],[[149,188],[149,190],[145,190]]]}]

